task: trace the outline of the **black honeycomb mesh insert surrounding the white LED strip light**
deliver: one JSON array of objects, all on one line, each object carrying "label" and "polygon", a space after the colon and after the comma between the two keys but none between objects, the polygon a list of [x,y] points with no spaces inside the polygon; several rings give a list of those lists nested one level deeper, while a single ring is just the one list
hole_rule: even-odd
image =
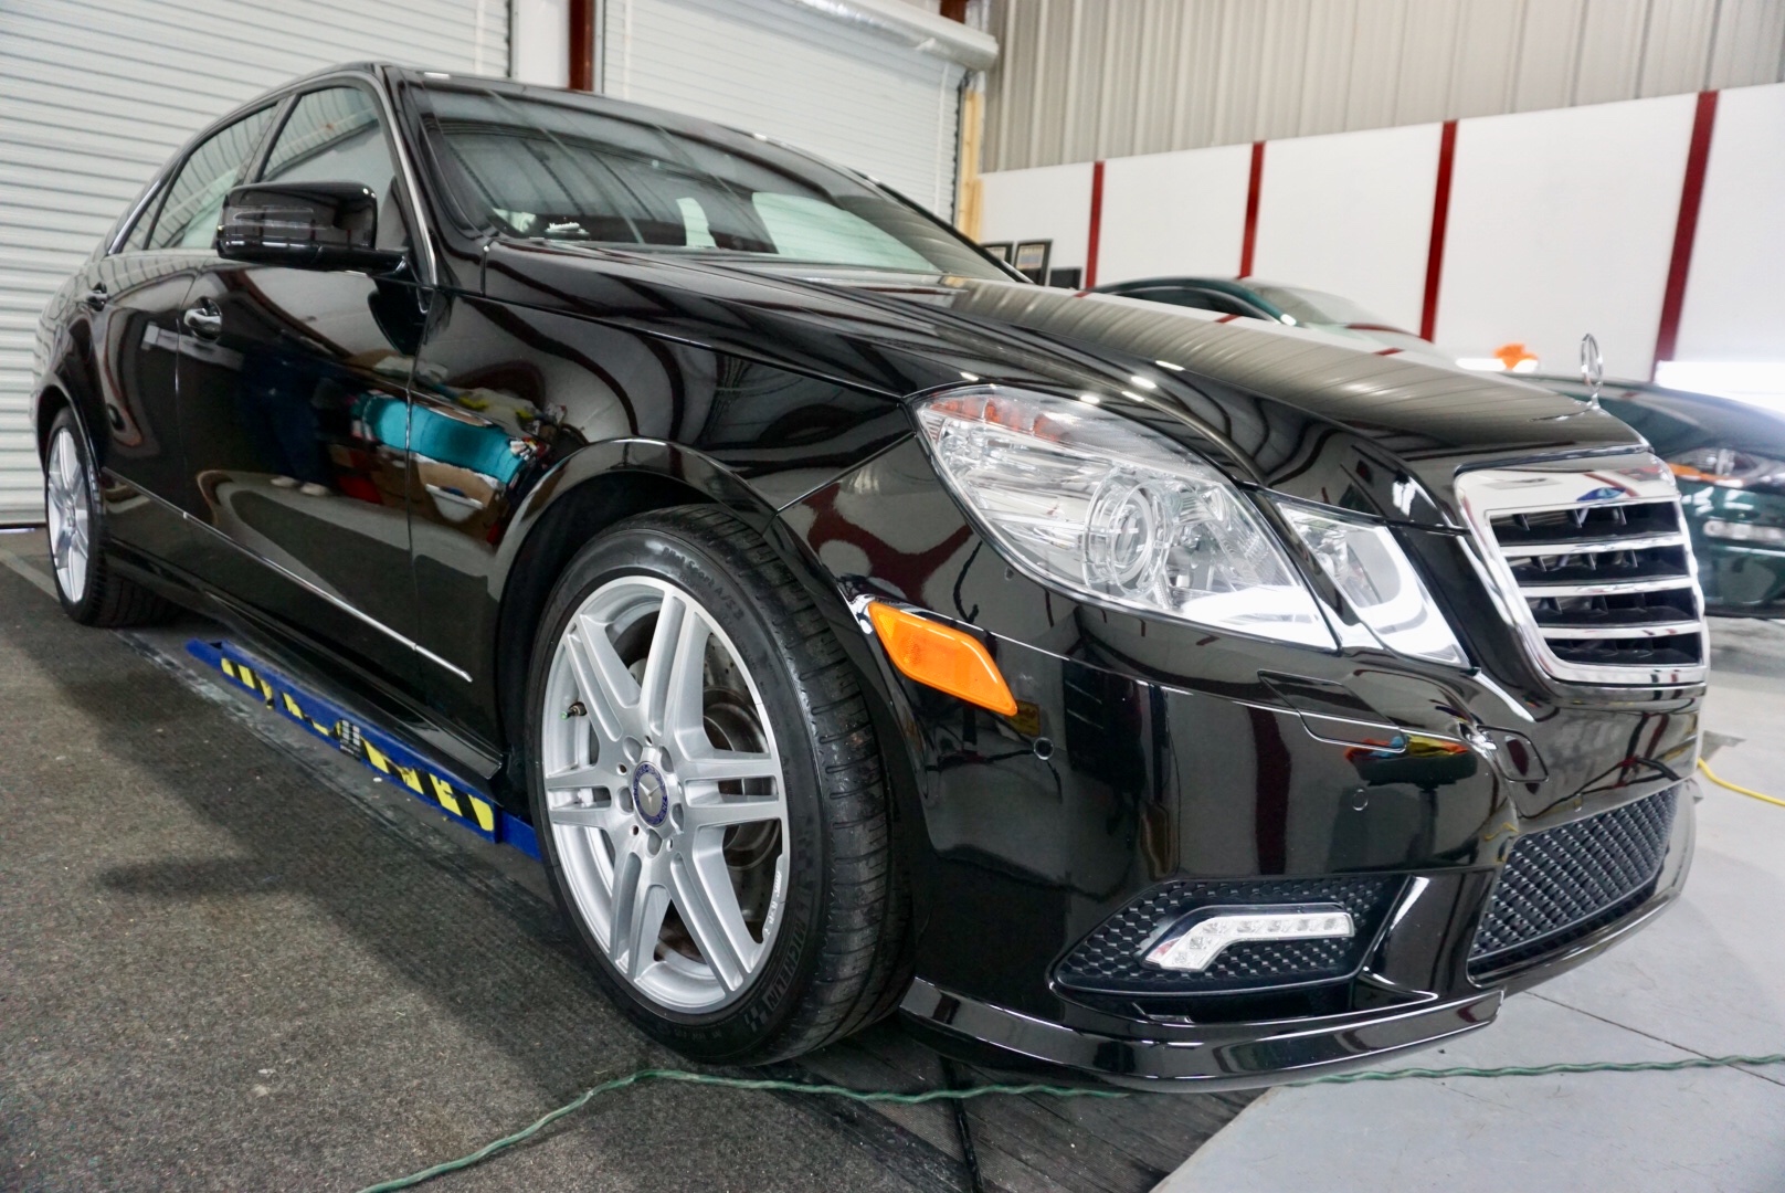
[{"label": "black honeycomb mesh insert surrounding the white LED strip light", "polygon": [[[1112,995],[1226,993],[1341,979],[1364,961],[1401,882],[1398,877],[1166,882],[1080,941],[1055,970],[1055,979],[1069,989]],[[1337,904],[1351,913],[1357,934],[1349,939],[1241,941],[1228,945],[1203,973],[1141,963],[1142,943],[1191,911],[1267,904]]]}]

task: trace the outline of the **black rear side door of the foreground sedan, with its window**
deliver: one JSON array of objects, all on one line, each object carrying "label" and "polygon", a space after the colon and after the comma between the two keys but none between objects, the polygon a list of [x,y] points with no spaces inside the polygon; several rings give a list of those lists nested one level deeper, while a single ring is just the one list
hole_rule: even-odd
[{"label": "black rear side door of the foreground sedan, with its window", "polygon": [[89,432],[105,468],[107,530],[173,563],[186,554],[178,511],[191,504],[175,398],[180,311],[223,195],[241,182],[271,118],[268,105],[200,141],[141,205],[116,252],[95,257],[80,279],[105,420]]}]

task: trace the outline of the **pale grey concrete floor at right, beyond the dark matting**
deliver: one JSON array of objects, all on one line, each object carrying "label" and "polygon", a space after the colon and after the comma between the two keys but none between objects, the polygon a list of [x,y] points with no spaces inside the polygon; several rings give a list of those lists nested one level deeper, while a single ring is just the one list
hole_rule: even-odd
[{"label": "pale grey concrete floor at right, beyond the dark matting", "polygon": [[[1785,625],[1712,623],[1717,775],[1785,798]],[[1785,809],[1699,782],[1680,904],[1398,1066],[1785,1052]],[[1385,1066],[1387,1068],[1387,1066]],[[1785,1066],[1274,1089],[1160,1193],[1778,1193]]]}]

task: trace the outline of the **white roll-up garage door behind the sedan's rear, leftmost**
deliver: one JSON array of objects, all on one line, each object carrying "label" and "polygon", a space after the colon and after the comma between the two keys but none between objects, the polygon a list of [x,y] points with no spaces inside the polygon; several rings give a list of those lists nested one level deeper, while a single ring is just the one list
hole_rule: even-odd
[{"label": "white roll-up garage door behind the sedan's rear, leftmost", "polygon": [[43,520],[37,313],[193,132],[355,61],[505,75],[507,0],[0,4],[0,525]]}]

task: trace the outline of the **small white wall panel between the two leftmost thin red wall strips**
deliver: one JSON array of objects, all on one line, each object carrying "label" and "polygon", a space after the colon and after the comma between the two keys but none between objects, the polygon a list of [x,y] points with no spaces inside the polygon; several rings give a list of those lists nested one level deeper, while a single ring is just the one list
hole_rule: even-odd
[{"label": "small white wall panel between the two leftmost thin red wall strips", "polygon": [[1237,273],[1250,175],[1250,145],[1105,163],[1098,284],[1171,273]]}]

